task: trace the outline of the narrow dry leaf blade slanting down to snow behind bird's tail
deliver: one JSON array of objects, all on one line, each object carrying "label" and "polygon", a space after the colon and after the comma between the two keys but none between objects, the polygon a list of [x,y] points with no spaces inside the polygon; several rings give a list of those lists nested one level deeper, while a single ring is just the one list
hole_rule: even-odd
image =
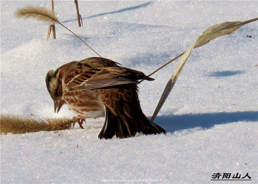
[{"label": "narrow dry leaf blade slanting down to snow behind bird's tail", "polygon": [[185,53],[183,54],[183,56],[179,59],[177,66],[175,68],[175,71],[173,73],[173,75],[171,76],[171,78],[169,79],[169,81],[167,82],[167,85],[161,95],[161,98],[159,100],[159,103],[151,117],[150,120],[154,120],[156,118],[156,116],[158,115],[161,107],[163,106],[164,102],[166,101],[169,93],[171,92],[172,88],[175,85],[175,82],[177,81],[177,78],[179,77],[179,74],[181,73],[181,71],[183,70],[183,67],[185,65],[186,60],[188,59],[189,55],[191,54],[194,44],[191,44],[191,46],[185,51]]}]

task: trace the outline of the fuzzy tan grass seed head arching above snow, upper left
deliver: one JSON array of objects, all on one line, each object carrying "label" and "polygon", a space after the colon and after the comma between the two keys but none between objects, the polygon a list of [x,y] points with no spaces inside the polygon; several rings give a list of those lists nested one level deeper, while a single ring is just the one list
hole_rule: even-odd
[{"label": "fuzzy tan grass seed head arching above snow, upper left", "polygon": [[19,8],[15,11],[15,16],[24,18],[36,18],[45,22],[58,22],[54,11],[50,9],[48,10],[43,6],[25,6],[23,8]]}]

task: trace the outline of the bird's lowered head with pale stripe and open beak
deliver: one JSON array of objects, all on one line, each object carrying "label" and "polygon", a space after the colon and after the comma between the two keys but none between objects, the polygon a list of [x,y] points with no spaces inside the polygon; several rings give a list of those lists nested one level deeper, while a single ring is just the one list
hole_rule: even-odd
[{"label": "bird's lowered head with pale stripe and open beak", "polygon": [[62,97],[62,79],[59,75],[59,70],[50,70],[46,75],[46,86],[51,98],[54,100],[55,112],[61,109],[62,105],[65,103]]}]

